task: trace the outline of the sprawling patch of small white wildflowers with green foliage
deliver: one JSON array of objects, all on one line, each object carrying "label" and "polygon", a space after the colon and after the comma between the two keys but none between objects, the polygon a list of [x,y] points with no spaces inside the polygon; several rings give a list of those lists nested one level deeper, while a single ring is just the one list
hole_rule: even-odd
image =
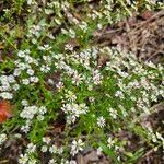
[{"label": "sprawling patch of small white wildflowers with green foliage", "polygon": [[[147,7],[162,8],[147,2]],[[14,58],[0,63],[0,99],[12,104],[12,117],[0,127],[0,151],[9,139],[19,136],[25,140],[19,163],[43,163],[40,156],[49,154],[49,164],[74,164],[75,155],[87,147],[105,153],[114,163],[130,163],[144,153],[143,145],[164,148],[160,129],[140,120],[154,113],[152,104],[164,98],[163,66],[140,62],[118,47],[92,43],[97,24],[102,28],[118,22],[137,10],[137,4],[120,0],[120,8],[113,12],[113,1],[101,1],[81,21],[73,15],[75,3],[49,1],[42,10],[37,1],[28,0],[25,39],[14,49]],[[58,26],[62,26],[61,32],[54,36],[50,28]],[[78,42],[78,49],[67,44],[70,39]],[[104,55],[108,60],[99,65]],[[50,132],[58,124],[63,127],[60,142]],[[121,131],[141,141],[133,152],[127,148],[128,139],[119,137]]]}]

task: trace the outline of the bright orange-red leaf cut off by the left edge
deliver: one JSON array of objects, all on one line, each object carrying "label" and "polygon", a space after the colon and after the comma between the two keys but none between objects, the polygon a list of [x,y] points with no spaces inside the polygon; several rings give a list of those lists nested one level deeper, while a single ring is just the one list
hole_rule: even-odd
[{"label": "bright orange-red leaf cut off by the left edge", "polygon": [[12,116],[11,105],[8,101],[0,101],[0,124],[4,122],[8,118]]}]

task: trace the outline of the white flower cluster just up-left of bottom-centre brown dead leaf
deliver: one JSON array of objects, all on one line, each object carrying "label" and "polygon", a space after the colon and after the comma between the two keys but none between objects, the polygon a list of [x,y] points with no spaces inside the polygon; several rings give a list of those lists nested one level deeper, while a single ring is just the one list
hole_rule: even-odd
[{"label": "white flower cluster just up-left of bottom-centre brown dead leaf", "polygon": [[84,143],[82,142],[81,139],[79,139],[78,141],[73,140],[72,144],[71,144],[71,154],[74,156],[79,151],[83,150],[83,145]]}]

